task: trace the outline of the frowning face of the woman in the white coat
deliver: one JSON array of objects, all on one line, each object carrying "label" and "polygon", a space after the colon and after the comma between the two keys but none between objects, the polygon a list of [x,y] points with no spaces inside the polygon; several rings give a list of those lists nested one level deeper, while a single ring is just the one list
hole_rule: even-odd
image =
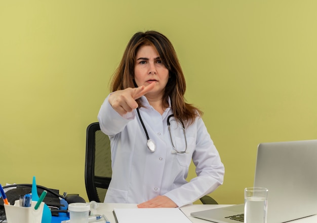
[{"label": "frowning face of the woman in the white coat", "polygon": [[162,97],[169,80],[169,70],[165,67],[153,46],[142,46],[135,58],[134,80],[138,86],[155,82],[155,87],[146,96]]}]

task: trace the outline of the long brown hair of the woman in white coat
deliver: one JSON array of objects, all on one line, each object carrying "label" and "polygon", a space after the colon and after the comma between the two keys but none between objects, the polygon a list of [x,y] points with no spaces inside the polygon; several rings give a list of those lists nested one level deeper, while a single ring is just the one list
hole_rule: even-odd
[{"label": "long brown hair of the woman in white coat", "polygon": [[[153,46],[160,55],[162,63],[169,70],[169,80],[165,87],[163,104],[168,107],[168,97],[175,118],[181,119],[186,125],[194,122],[195,117],[203,112],[191,104],[185,102],[186,81],[171,41],[157,31],[137,32],[130,39],[120,65],[115,70],[110,82],[110,91],[124,90],[128,87],[136,87],[134,81],[134,66],[136,54],[142,46]],[[140,100],[136,100],[142,106]]]}]

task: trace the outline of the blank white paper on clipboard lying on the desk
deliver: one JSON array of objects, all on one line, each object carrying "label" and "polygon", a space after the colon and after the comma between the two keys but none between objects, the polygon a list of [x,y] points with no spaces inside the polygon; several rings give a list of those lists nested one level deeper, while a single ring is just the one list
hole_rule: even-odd
[{"label": "blank white paper on clipboard lying on the desk", "polygon": [[114,208],[116,223],[192,223],[179,208]]}]

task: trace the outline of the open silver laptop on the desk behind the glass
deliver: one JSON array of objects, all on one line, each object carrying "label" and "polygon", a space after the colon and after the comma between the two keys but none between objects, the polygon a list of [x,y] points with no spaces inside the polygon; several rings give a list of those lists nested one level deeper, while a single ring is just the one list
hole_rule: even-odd
[{"label": "open silver laptop on the desk behind the glass", "polygon": [[[317,140],[259,144],[254,186],[268,189],[267,223],[317,214]],[[229,216],[243,213],[244,204],[238,204],[190,215],[217,223],[238,223],[239,218]]]}]

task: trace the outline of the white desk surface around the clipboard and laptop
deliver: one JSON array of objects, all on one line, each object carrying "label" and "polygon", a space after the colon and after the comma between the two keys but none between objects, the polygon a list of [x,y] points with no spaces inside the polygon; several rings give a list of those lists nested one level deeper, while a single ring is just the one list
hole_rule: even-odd
[{"label": "white desk surface around the clipboard and laptop", "polygon": [[[136,204],[113,204],[113,203],[98,203],[99,207],[96,209],[96,212],[93,214],[104,214],[110,223],[115,223],[115,219],[113,216],[113,208],[137,208]],[[190,213],[195,211],[207,210],[217,207],[225,207],[229,205],[215,205],[215,204],[193,204],[193,205],[186,205],[181,207],[180,209],[188,216],[188,218],[193,223],[208,223],[211,221],[199,219],[196,217],[191,217]],[[239,222],[239,221],[237,221]],[[305,217],[298,220],[290,221],[290,223],[316,223],[317,222],[317,215]]]}]

